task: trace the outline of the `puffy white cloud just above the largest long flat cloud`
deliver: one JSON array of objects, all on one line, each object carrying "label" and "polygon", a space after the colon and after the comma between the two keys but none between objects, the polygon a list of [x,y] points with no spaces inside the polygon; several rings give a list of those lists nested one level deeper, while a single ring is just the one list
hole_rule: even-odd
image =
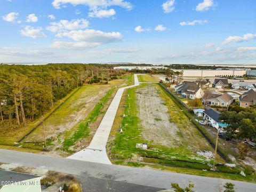
[{"label": "puffy white cloud just above the largest long flat cloud", "polygon": [[50,24],[46,29],[57,33],[66,30],[85,29],[89,26],[89,21],[86,19],[60,20],[59,22],[51,22]]}]

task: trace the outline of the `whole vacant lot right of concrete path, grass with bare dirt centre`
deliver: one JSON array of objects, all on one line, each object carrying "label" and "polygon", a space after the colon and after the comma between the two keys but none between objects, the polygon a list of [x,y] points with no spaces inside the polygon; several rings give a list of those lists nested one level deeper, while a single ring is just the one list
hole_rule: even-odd
[{"label": "whole vacant lot right of concrete path, grass with bare dirt centre", "polygon": [[[154,98],[155,95],[150,98],[149,95],[146,98],[147,101],[141,101],[141,103],[148,102],[148,106],[146,106],[146,111],[142,114],[141,118],[139,118],[138,108],[142,110],[141,106],[137,106],[139,94],[143,89],[145,89],[145,87],[147,88],[152,86],[154,87],[153,90],[157,92],[156,94],[158,94],[158,99],[161,99],[164,104],[154,103],[154,100],[156,100],[157,98]],[[178,159],[190,162],[206,162],[206,159],[202,156],[197,156],[196,152],[199,150],[213,151],[213,148],[210,146],[209,143],[207,143],[201,133],[199,133],[196,127],[190,122],[188,117],[183,114],[179,107],[176,106],[170,98],[166,97],[165,92],[162,89],[159,89],[158,85],[140,85],[139,87],[129,89],[128,95],[129,96],[126,99],[126,107],[124,109],[125,117],[123,117],[123,121],[121,124],[124,132],[122,134],[118,133],[115,140],[116,146],[114,148],[114,152],[117,152],[116,155],[118,155],[118,158],[126,159],[142,156],[159,159]],[[165,105],[167,109],[169,109],[167,113],[169,113],[170,119],[169,122],[166,123],[169,129],[177,130],[171,131],[175,132],[175,135],[171,135],[169,132],[165,131],[161,132],[161,129],[156,129],[156,127],[160,126],[160,122],[163,125],[166,124],[162,122],[163,120],[161,119],[161,114],[163,115],[163,113],[166,112],[164,111],[165,108],[161,108],[161,104]],[[155,114],[156,110],[158,111],[158,113]],[[150,121],[152,122],[151,124],[143,123]],[[143,127],[142,124],[145,126]],[[164,127],[162,130],[164,130]],[[147,136],[145,135],[145,133],[147,134]],[[145,137],[150,140],[147,140]],[[168,144],[172,143],[172,145],[160,145],[159,142],[156,141],[161,140],[161,138],[163,138],[163,140],[167,140],[168,138],[170,138],[170,140],[174,140],[175,138],[175,140],[165,142]],[[135,148],[136,143],[143,142],[148,143],[150,150],[141,150]],[[121,151],[118,151],[118,149],[120,149]],[[134,153],[137,154],[134,155]],[[114,154],[115,153],[113,153],[113,155]],[[218,157],[218,159],[221,163],[223,163],[220,157]]]}]

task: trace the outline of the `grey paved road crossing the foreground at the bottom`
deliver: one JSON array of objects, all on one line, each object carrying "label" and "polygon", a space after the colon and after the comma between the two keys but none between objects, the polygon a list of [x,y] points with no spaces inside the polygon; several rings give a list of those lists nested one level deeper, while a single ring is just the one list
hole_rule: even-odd
[{"label": "grey paved road crossing the foreground at the bottom", "polygon": [[256,185],[253,183],[77,161],[5,149],[0,149],[0,162],[74,174],[84,183],[85,191],[136,191],[132,190],[136,187],[141,189],[138,191],[157,191],[162,188],[170,189],[172,182],[186,186],[188,181],[195,184],[196,192],[215,192],[220,182],[234,183],[236,192],[256,191]]}]

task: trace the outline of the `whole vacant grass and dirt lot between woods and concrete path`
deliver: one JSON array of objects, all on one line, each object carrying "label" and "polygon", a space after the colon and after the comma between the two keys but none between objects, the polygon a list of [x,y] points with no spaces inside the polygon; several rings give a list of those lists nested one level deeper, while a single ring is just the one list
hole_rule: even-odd
[{"label": "whole vacant grass and dirt lot between woods and concrete path", "polygon": [[[49,111],[49,114],[45,116],[49,117],[44,121],[47,149],[51,150],[49,153],[59,155],[62,150],[70,152],[70,146],[76,145],[79,140],[91,134],[91,129],[97,129],[98,123],[101,121],[100,118],[108,108],[107,105],[109,105],[115,91],[119,86],[125,86],[130,82],[132,82],[132,75],[110,81],[107,85],[84,85],[74,90],[65,100],[58,102],[58,105],[56,104],[51,111],[59,108],[51,115],[49,115],[51,113]],[[18,129],[17,132],[12,132],[7,137],[1,138],[3,144],[13,145],[39,122],[40,119],[30,123],[22,131]],[[43,145],[44,130],[42,125],[19,143],[19,146],[23,148],[30,148],[32,153],[34,153],[34,149],[42,150]],[[20,150],[21,148],[16,147],[16,149]]]}]

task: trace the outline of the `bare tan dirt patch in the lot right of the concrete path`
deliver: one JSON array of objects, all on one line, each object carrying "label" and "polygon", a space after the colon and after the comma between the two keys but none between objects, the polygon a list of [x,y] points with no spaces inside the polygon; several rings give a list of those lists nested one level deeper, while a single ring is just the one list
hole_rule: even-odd
[{"label": "bare tan dirt patch in the lot right of the concrete path", "polygon": [[177,134],[179,129],[169,121],[168,108],[159,96],[157,87],[149,84],[135,92],[138,117],[140,125],[143,127],[143,137],[158,145],[179,146],[180,138]]}]

